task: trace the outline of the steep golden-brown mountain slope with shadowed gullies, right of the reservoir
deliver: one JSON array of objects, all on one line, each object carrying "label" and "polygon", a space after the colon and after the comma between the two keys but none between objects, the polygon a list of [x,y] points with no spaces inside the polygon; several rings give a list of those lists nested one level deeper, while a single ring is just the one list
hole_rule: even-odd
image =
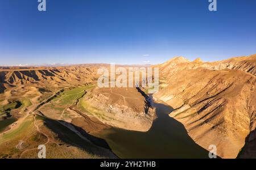
[{"label": "steep golden-brown mountain slope with shadowed gullies, right of the reservoir", "polygon": [[236,158],[256,126],[255,65],[256,55],[213,63],[174,58],[158,65],[161,90],[154,97],[174,108],[170,116],[200,146]]}]

